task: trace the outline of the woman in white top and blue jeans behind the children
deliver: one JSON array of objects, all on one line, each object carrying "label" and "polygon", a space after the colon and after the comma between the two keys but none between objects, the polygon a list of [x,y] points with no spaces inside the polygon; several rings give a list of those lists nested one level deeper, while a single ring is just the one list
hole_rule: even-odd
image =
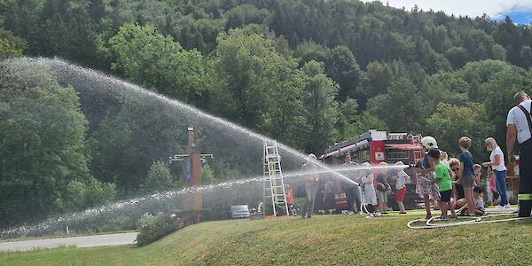
[{"label": "woman in white top and blue jeans behind the children", "polygon": [[493,137],[488,137],[484,141],[486,149],[491,152],[489,161],[482,163],[485,168],[491,167],[495,173],[495,184],[497,185],[497,192],[501,195],[501,201],[497,208],[508,208],[508,196],[506,196],[506,167],[505,167],[505,153],[497,145],[497,141]]}]

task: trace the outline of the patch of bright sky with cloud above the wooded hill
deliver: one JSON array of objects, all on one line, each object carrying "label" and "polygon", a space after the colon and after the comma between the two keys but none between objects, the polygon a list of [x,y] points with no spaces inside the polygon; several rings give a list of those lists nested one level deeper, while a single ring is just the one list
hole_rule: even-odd
[{"label": "patch of bright sky with cloud above the wooded hill", "polygon": [[455,16],[477,17],[486,13],[494,20],[505,20],[510,16],[517,24],[532,22],[532,0],[380,0],[390,6],[410,10],[415,4],[420,9],[443,11]]}]

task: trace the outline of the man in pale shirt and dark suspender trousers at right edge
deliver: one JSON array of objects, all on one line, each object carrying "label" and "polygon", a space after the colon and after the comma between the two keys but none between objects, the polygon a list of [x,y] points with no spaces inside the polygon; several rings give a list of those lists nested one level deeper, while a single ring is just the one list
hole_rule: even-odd
[{"label": "man in pale shirt and dark suspender trousers at right edge", "polygon": [[532,117],[530,107],[532,100],[524,91],[513,97],[517,106],[514,106],[506,119],[508,130],[506,132],[506,148],[508,160],[515,163],[513,146],[515,139],[519,143],[519,216],[528,217],[532,210]]}]

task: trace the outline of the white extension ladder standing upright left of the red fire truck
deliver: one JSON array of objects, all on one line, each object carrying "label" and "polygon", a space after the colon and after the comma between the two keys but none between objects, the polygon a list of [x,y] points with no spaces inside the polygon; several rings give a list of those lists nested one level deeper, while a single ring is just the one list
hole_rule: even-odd
[{"label": "white extension ladder standing upright left of the red fire truck", "polygon": [[281,156],[279,156],[278,143],[264,141],[264,207],[271,200],[273,215],[281,216],[288,213],[286,203],[285,182],[281,170]]}]

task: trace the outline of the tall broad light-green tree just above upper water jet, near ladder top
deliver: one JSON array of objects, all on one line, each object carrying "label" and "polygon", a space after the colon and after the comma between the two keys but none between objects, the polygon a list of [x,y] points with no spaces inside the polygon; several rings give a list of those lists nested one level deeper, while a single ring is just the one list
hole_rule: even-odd
[{"label": "tall broad light-green tree just above upper water jet, near ladder top", "polygon": [[275,76],[274,65],[282,60],[275,42],[262,35],[246,35],[241,29],[220,35],[212,61],[218,85],[211,109],[247,127],[259,125],[271,91],[278,90],[270,88],[270,75]]}]

